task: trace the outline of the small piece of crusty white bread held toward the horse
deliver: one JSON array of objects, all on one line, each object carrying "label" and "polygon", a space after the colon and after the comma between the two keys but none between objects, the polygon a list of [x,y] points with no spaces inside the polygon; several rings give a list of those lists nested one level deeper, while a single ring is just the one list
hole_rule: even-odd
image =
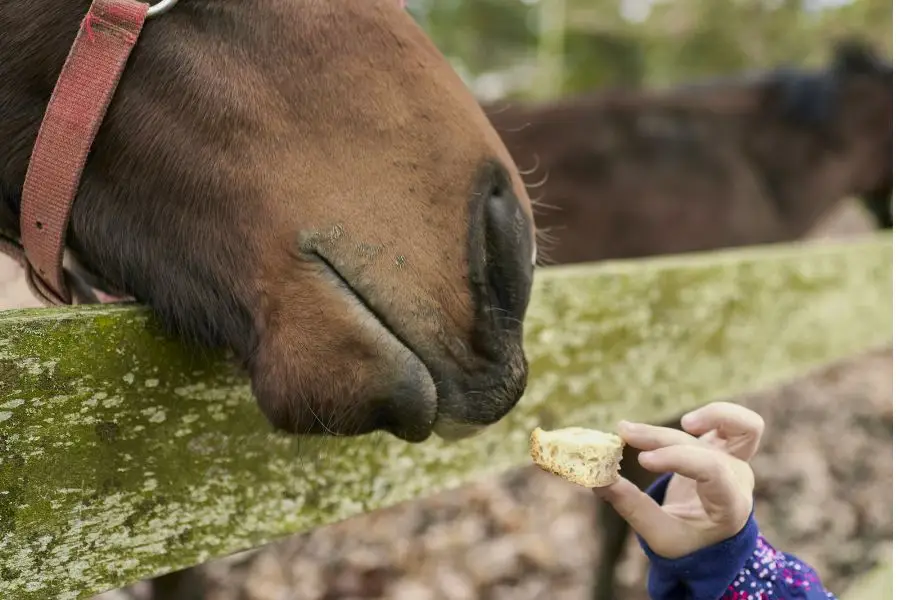
[{"label": "small piece of crusty white bread held toward the horse", "polygon": [[625,442],[614,433],[585,427],[531,432],[531,460],[554,475],[588,488],[606,487],[619,479]]}]

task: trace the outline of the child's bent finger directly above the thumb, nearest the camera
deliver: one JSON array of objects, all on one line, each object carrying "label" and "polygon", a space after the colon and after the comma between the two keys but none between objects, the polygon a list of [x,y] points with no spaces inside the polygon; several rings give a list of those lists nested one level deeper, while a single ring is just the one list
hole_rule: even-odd
[{"label": "child's bent finger directly above the thumb, nearest the camera", "polygon": [[710,519],[717,523],[740,517],[747,494],[732,470],[731,456],[709,447],[679,445],[642,452],[638,461],[649,471],[674,472],[697,482],[697,495]]}]

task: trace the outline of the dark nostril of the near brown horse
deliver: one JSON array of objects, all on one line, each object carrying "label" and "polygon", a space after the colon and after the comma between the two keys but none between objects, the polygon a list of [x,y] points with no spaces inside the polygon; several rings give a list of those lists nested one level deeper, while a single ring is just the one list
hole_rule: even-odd
[{"label": "dark nostril of the near brown horse", "polygon": [[521,325],[532,279],[531,226],[512,190],[495,186],[485,206],[485,283],[491,320]]}]

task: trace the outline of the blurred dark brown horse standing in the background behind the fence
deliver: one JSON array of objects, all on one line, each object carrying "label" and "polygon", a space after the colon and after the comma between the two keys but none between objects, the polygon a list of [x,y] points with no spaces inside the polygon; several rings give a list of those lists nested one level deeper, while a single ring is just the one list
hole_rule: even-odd
[{"label": "blurred dark brown horse standing in the background behind the fence", "polygon": [[[892,75],[866,45],[843,42],[817,71],[486,112],[519,168],[544,180],[542,261],[631,258],[796,240],[848,197],[892,228]],[[623,474],[653,479],[630,448]],[[612,600],[628,528],[605,503],[598,525],[595,597]]]}]

